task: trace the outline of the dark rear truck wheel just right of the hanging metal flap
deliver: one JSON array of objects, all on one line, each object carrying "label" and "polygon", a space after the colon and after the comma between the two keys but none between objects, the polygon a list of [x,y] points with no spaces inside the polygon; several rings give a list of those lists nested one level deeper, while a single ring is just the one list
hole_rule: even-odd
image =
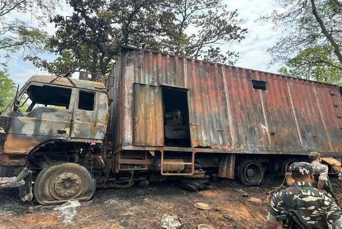
[{"label": "dark rear truck wheel just right of the hanging metal flap", "polygon": [[237,167],[237,175],[243,185],[256,186],[264,179],[264,167],[260,161],[246,160]]}]

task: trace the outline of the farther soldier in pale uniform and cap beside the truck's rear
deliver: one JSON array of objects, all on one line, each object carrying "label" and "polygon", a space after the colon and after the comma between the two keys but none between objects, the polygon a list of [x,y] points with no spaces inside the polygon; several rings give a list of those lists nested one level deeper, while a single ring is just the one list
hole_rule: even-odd
[{"label": "farther soldier in pale uniform and cap beside the truck's rear", "polygon": [[313,173],[316,174],[318,177],[318,179],[314,179],[313,187],[317,187],[317,189],[322,190],[324,183],[326,183],[330,187],[328,166],[322,164],[321,155],[317,152],[310,152],[309,158],[311,160]]}]

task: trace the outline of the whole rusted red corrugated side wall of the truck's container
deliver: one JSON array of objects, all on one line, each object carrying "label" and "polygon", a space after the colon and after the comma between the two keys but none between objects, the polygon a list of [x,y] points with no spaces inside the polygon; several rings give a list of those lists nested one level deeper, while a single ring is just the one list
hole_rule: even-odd
[{"label": "whole rusted red corrugated side wall of the truck's container", "polygon": [[161,88],[170,86],[189,89],[193,148],[342,153],[337,86],[135,49],[123,49],[115,73],[115,148],[163,146]]}]

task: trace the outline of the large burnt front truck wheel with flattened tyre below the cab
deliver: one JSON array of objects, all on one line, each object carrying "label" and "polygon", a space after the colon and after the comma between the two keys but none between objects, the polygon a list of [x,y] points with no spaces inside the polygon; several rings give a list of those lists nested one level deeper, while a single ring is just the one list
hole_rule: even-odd
[{"label": "large burnt front truck wheel with flattened tyre below the cab", "polygon": [[58,162],[40,171],[34,195],[39,204],[51,205],[68,200],[87,201],[95,189],[96,181],[86,168],[76,163]]}]

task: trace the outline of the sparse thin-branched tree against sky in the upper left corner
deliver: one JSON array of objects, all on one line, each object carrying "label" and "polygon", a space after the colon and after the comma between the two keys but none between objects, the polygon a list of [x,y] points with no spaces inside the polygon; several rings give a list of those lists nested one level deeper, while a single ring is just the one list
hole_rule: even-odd
[{"label": "sparse thin-branched tree against sky in the upper left corner", "polygon": [[[2,65],[10,54],[22,51],[36,56],[44,51],[47,34],[42,30],[46,18],[53,15],[59,0],[0,0],[0,51]],[[32,23],[14,17],[21,13],[31,18]],[[37,26],[33,26],[33,24]]]}]

